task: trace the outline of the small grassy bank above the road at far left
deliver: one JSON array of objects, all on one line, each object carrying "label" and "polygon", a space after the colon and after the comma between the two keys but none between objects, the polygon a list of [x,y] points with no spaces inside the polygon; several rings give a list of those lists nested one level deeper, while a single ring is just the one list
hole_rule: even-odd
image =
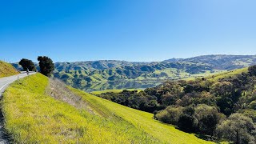
[{"label": "small grassy bank above the road at far left", "polygon": [[0,78],[19,74],[9,63],[0,61]]}]

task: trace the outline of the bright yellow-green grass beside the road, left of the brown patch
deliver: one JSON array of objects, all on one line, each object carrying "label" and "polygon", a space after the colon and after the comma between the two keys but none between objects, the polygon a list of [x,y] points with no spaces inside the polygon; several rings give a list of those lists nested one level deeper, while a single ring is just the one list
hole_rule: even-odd
[{"label": "bright yellow-green grass beside the road, left of the brown patch", "polygon": [[3,95],[6,130],[14,143],[160,143],[122,118],[104,118],[46,95],[48,78],[34,74]]}]

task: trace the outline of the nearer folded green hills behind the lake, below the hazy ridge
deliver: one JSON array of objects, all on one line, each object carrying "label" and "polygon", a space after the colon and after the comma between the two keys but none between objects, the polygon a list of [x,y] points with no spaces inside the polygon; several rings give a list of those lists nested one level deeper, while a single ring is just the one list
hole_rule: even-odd
[{"label": "nearer folded green hills behind the lake, below the hazy ridge", "polygon": [[[61,71],[58,71],[61,70]],[[118,66],[106,70],[62,70],[56,66],[55,78],[68,84],[120,80],[178,79],[215,72],[212,67],[196,62],[154,62],[142,65]]]}]

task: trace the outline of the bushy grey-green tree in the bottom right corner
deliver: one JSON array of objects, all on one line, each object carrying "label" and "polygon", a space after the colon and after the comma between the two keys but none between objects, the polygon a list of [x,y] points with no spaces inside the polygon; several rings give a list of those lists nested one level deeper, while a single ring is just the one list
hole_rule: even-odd
[{"label": "bushy grey-green tree in the bottom right corner", "polygon": [[254,122],[243,114],[231,114],[218,125],[217,134],[219,138],[236,144],[256,142]]}]

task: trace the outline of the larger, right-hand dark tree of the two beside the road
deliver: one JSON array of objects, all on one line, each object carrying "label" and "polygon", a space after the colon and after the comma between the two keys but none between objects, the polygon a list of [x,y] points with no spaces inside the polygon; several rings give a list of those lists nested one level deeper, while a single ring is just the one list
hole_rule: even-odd
[{"label": "larger, right-hand dark tree of the two beside the road", "polygon": [[40,72],[47,77],[50,77],[50,75],[54,72],[54,62],[46,56],[39,56],[38,61],[40,66]]}]

